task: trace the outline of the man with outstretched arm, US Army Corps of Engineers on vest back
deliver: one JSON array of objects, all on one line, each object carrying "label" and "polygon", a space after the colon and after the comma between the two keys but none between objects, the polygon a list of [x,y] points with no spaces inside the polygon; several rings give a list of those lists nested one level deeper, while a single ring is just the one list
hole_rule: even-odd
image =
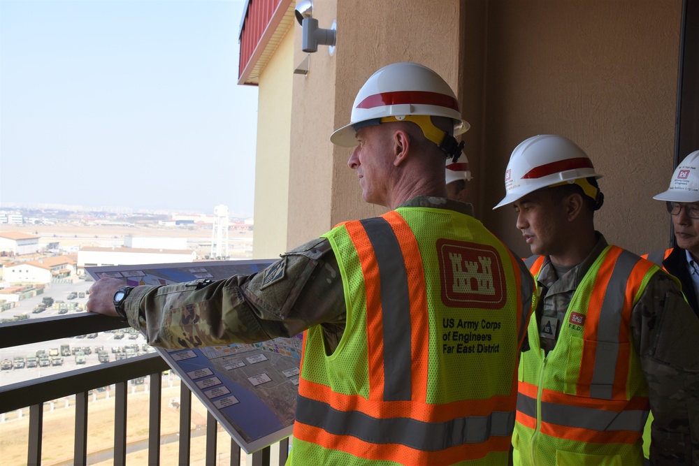
[{"label": "man with outstretched arm, US Army Corps of Engineers on vest back", "polygon": [[387,214],[250,277],[186,291],[101,279],[88,310],[162,347],[306,330],[287,464],[506,465],[534,283],[472,206],[446,198],[444,161],[458,161],[466,129],[437,73],[384,66],[331,141],[354,147],[361,195]]}]

